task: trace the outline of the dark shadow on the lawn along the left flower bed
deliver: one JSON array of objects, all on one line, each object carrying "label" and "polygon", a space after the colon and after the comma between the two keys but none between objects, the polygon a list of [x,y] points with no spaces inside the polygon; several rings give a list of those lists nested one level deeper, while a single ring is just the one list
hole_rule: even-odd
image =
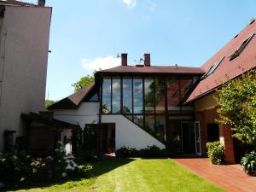
[{"label": "dark shadow on the lawn along the left flower bed", "polygon": [[133,161],[129,158],[118,158],[118,157],[108,157],[108,158],[100,158],[97,160],[89,160],[85,161],[82,164],[90,164],[93,166],[92,170],[88,173],[88,175],[84,177],[67,177],[65,179],[59,178],[47,182],[36,182],[36,183],[29,183],[23,186],[10,186],[7,188],[0,189],[0,191],[7,191],[7,190],[19,190],[19,189],[32,189],[32,188],[46,188],[56,184],[64,184],[67,182],[79,182],[83,179],[90,179],[94,177],[98,177],[104,173],[111,172],[114,169],[118,168],[119,166],[124,166],[125,164],[130,163]]}]

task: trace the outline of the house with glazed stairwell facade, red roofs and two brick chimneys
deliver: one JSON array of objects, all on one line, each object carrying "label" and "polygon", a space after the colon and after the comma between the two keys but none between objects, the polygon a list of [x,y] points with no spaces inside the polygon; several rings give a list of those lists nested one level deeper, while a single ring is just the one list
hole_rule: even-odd
[{"label": "house with glazed stairwell facade, red roofs and two brick chimneys", "polygon": [[171,146],[180,154],[206,155],[206,143],[220,140],[226,161],[235,162],[230,125],[218,125],[216,89],[256,66],[256,22],[201,67],[144,64],[99,71],[95,83],[49,107],[55,119],[77,123],[102,153],[123,146]]}]

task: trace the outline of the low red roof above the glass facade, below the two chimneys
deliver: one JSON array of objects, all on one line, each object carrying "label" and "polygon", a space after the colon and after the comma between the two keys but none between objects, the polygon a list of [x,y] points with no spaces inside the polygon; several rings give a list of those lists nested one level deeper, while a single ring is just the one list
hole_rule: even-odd
[{"label": "low red roof above the glass facade, below the two chimneys", "polygon": [[118,66],[102,70],[98,73],[189,73],[203,74],[204,71],[200,67],[176,67],[176,66]]}]

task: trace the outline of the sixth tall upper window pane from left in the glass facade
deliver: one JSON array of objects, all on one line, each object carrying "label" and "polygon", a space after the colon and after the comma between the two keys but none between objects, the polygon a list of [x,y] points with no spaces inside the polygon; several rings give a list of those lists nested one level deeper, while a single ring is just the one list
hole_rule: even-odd
[{"label": "sixth tall upper window pane from left in the glass facade", "polygon": [[165,113],[165,79],[154,79],[155,82],[155,113]]}]

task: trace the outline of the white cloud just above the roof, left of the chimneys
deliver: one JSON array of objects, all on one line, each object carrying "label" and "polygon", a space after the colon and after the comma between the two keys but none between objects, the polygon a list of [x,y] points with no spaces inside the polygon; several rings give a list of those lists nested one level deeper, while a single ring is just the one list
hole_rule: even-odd
[{"label": "white cloud just above the roof, left of the chimneys", "polygon": [[121,59],[114,56],[97,57],[94,60],[87,58],[82,59],[82,66],[90,71],[101,69],[107,69],[111,67],[120,66]]}]

